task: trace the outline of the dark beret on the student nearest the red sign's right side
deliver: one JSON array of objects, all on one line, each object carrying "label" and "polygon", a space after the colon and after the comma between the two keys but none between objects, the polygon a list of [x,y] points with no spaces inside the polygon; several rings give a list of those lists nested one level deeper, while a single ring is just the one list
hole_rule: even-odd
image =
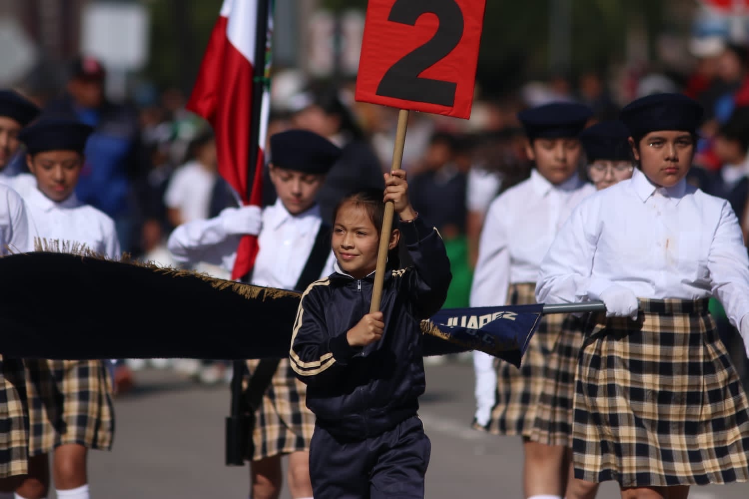
[{"label": "dark beret on the student nearest the red sign's right side", "polygon": [[525,133],[534,138],[577,137],[585,128],[593,111],[576,102],[551,102],[518,113]]}]

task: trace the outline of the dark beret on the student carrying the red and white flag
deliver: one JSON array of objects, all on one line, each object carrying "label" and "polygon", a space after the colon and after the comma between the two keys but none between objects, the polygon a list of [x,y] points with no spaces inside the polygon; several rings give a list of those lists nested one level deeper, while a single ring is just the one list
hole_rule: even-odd
[{"label": "dark beret on the student carrying the red and white flag", "polygon": [[338,146],[308,130],[286,130],[270,136],[270,162],[277,168],[324,175],[340,156]]}]

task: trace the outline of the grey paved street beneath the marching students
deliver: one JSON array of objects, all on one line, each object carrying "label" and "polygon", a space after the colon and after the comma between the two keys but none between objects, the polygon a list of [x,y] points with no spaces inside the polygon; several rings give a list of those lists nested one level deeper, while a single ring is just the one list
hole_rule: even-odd
[{"label": "grey paved street beneath the marching students", "polygon": [[[116,400],[112,453],[91,454],[91,492],[107,499],[246,498],[247,468],[223,464],[228,388],[203,388],[171,372],[137,373],[139,389]],[[429,499],[522,498],[521,445],[469,428],[470,364],[428,367],[421,416],[432,441]],[[618,497],[608,483],[599,498]],[[749,484],[693,489],[694,499],[746,499]],[[282,498],[288,499],[285,492]]]}]

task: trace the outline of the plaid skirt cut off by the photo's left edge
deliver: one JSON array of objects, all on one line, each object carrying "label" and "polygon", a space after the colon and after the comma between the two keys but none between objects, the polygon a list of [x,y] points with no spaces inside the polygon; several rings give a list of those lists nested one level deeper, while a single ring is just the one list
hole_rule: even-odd
[{"label": "plaid skirt cut off by the photo's left edge", "polygon": [[23,362],[0,357],[0,478],[28,473],[28,408]]}]

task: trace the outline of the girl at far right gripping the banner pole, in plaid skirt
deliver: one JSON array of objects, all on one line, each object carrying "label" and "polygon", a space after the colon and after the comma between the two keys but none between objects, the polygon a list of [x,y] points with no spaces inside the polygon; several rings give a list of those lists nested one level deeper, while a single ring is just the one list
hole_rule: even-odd
[{"label": "girl at far right gripping the banner pole, in plaid skirt", "polygon": [[730,204],[685,180],[702,115],[681,94],[625,107],[639,167],[574,209],[541,266],[539,300],[606,304],[578,358],[574,473],[622,498],[749,480],[749,402],[708,310],[749,344],[749,258]]}]

